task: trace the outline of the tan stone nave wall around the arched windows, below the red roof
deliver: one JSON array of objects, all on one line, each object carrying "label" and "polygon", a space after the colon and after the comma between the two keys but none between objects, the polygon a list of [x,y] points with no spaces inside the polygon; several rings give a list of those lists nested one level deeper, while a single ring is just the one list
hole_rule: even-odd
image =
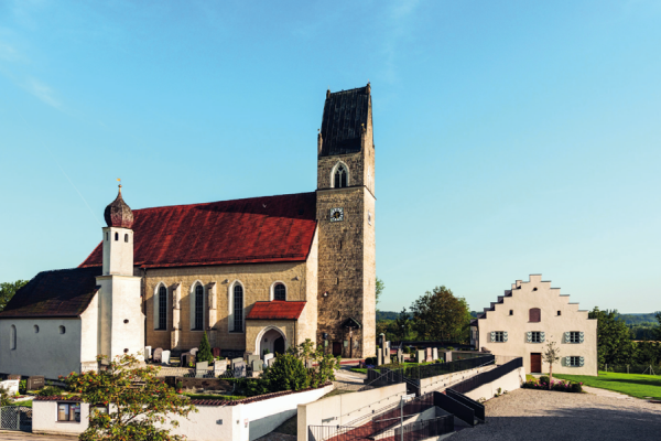
[{"label": "tan stone nave wall around the arched windows, below the red roof", "polygon": [[[256,301],[269,301],[271,286],[275,281],[282,281],[286,287],[286,299],[289,301],[305,301],[308,293],[307,288],[308,268],[306,262],[278,262],[278,263],[246,263],[208,267],[180,267],[148,269],[144,279],[144,313],[147,321],[147,344],[152,347],[172,348],[171,331],[173,330],[172,308],[169,303],[167,331],[154,330],[154,291],[160,282],[167,287],[169,299],[172,299],[173,286],[181,283],[181,337],[177,349],[189,349],[197,347],[203,337],[203,331],[191,330],[191,289],[199,281],[205,287],[206,293],[209,283],[216,283],[216,311],[217,320],[213,324],[216,341],[212,346],[221,349],[245,351],[246,333],[229,332],[229,289],[235,281],[243,286],[243,319],[250,312]],[[299,280],[296,280],[296,277]],[[316,280],[312,281],[316,283]],[[246,321],[245,321],[246,323]],[[208,324],[205,323],[205,327]]]}]

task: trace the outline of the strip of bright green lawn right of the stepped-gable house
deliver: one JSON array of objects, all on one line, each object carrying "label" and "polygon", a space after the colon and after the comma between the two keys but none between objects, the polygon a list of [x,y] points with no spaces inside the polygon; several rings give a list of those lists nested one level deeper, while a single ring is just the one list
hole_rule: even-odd
[{"label": "strip of bright green lawn right of the stepped-gable house", "polygon": [[553,375],[553,378],[570,379],[585,386],[614,390],[636,398],[661,399],[661,377],[657,375],[615,374],[599,370],[598,377],[588,375]]}]

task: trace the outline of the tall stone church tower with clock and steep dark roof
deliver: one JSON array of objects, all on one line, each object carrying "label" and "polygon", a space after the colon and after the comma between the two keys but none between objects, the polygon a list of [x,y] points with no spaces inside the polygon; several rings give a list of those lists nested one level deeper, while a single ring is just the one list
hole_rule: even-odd
[{"label": "tall stone church tower with clock and steep dark roof", "polygon": [[[376,353],[375,144],[371,86],[326,93],[317,139],[317,342]],[[324,344],[324,343],[321,343]]]}]

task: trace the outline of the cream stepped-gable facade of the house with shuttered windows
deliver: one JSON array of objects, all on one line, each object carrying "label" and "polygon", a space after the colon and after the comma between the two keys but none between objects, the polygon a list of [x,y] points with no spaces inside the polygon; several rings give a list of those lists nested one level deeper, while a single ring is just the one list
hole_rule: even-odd
[{"label": "cream stepped-gable facade of the house with shuttered windows", "polygon": [[[539,321],[530,321],[531,309],[540,310]],[[534,359],[553,341],[561,356],[553,373],[597,375],[597,321],[587,314],[578,310],[578,303],[570,303],[570,297],[562,295],[559,288],[551,288],[550,281],[542,281],[541,275],[531,275],[528,282],[517,280],[498,302],[478,314],[472,322],[472,343],[499,356],[523,357],[523,367],[531,373]],[[568,333],[579,336],[576,343]],[[539,336],[539,342],[533,336]],[[578,365],[572,366],[567,357],[575,357]],[[549,373],[549,364],[542,362],[540,370]]]}]

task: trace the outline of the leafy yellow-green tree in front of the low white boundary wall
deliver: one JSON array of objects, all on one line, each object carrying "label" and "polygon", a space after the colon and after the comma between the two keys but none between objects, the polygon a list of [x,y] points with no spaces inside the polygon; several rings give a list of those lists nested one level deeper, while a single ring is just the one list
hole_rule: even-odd
[{"label": "leafy yellow-green tree in front of the low white boundary wall", "polygon": [[[99,362],[105,357],[99,355]],[[187,417],[197,409],[187,398],[156,377],[158,367],[140,367],[132,355],[117,356],[99,372],[72,373],[66,383],[85,402],[107,406],[108,412],[91,411],[80,441],[171,441],[164,424],[177,427],[173,416]],[[160,427],[156,427],[159,424]]]}]

